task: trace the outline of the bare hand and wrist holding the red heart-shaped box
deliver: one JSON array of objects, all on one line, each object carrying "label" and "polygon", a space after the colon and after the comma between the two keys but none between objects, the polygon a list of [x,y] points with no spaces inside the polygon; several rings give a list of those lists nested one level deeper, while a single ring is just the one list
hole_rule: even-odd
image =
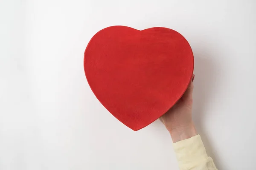
[{"label": "bare hand and wrist holding the red heart-shaped box", "polygon": [[173,142],[178,142],[197,135],[192,121],[194,77],[195,75],[193,75],[189,87],[180,100],[159,118],[171,134]]}]

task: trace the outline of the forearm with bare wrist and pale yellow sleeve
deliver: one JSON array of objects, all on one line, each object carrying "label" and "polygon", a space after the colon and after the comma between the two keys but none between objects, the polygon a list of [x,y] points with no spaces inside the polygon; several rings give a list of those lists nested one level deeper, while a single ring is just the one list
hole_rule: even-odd
[{"label": "forearm with bare wrist and pale yellow sleeve", "polygon": [[170,131],[180,170],[217,170],[193,122]]}]

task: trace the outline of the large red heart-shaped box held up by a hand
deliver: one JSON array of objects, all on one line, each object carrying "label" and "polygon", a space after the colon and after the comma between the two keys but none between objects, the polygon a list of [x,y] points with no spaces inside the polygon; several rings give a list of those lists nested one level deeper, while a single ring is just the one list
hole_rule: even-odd
[{"label": "large red heart-shaped box held up by a hand", "polygon": [[111,26],[84,52],[84,71],[102,105],[139,130],[162,116],[186,91],[194,57],[186,39],[169,28]]}]

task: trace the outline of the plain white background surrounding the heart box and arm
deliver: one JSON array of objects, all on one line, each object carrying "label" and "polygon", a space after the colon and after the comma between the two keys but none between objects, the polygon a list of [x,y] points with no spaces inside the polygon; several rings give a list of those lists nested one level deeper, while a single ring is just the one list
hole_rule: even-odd
[{"label": "plain white background surrounding the heart box and arm", "polygon": [[256,168],[255,0],[1,0],[0,170],[177,170],[160,121],[134,132],[83,70],[113,25],[162,26],[195,55],[193,119],[219,170]]}]

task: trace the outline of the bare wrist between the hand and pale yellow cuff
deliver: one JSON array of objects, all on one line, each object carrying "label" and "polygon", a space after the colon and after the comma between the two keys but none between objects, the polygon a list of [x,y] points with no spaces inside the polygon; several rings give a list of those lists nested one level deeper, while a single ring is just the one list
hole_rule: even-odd
[{"label": "bare wrist between the hand and pale yellow cuff", "polygon": [[173,143],[182,141],[184,139],[189,139],[198,134],[193,123],[183,127],[175,127],[170,130],[169,133],[172,136]]}]

